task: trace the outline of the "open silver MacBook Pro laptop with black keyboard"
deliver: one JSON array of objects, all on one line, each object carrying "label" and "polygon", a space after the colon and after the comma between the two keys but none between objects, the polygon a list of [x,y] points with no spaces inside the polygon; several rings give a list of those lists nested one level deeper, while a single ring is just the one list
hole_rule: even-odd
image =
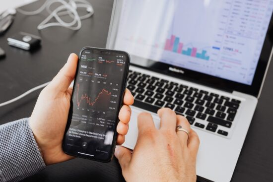
[{"label": "open silver MacBook Pro laptop with black keyboard", "polygon": [[[116,0],[107,48],[131,55],[137,115],[171,108],[200,137],[201,182],[229,182],[252,120],[273,47],[273,0]],[[160,142],[160,141],[158,141]]]}]

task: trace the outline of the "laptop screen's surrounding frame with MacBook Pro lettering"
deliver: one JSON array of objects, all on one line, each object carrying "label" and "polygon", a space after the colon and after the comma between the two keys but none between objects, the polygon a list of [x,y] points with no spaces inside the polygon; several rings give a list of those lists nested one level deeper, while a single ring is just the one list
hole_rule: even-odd
[{"label": "laptop screen's surrounding frame with MacBook Pro lettering", "polygon": [[[123,0],[115,0],[111,23],[109,27],[108,39],[107,39],[107,49],[114,49],[116,35],[119,27],[120,12],[122,10]],[[195,83],[203,84],[206,86],[211,86],[217,89],[225,91],[238,91],[253,95],[258,97],[260,90],[265,79],[265,74],[269,66],[270,60],[272,59],[273,53],[273,14],[271,15],[271,20],[269,28],[267,30],[264,45],[261,51],[261,55],[257,64],[257,68],[253,77],[251,85],[231,81],[228,79],[219,78],[216,76],[211,76],[198,71],[186,69],[183,67],[174,66],[171,64],[166,64],[159,61],[148,60],[144,58],[131,55],[131,64],[144,69],[155,71],[162,74],[167,74],[179,79],[184,79],[188,81],[193,81]],[[175,70],[175,71],[174,71]]]}]

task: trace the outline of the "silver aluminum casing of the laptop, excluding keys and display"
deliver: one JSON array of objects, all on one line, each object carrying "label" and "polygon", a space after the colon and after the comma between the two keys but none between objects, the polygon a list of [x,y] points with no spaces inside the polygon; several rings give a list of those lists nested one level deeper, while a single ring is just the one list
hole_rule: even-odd
[{"label": "silver aluminum casing of the laptop, excluding keys and display", "polygon": [[[120,23],[119,21],[121,12],[123,11],[124,8],[122,4],[123,4],[122,0],[116,0],[114,2],[112,20],[107,40],[108,49],[116,48],[115,41],[118,34],[118,26]],[[270,56],[269,60],[271,60],[272,51],[269,56]],[[134,57],[132,58],[132,60],[133,59]],[[265,74],[263,75],[263,81],[260,86],[259,94],[262,89],[262,85],[265,79],[267,68],[269,66],[269,62],[270,61],[268,61]],[[183,84],[189,87],[202,89],[208,92],[216,93],[222,96],[226,96],[241,101],[240,107],[237,111],[237,115],[233,121],[232,127],[227,129],[224,126],[220,125],[218,126],[219,129],[227,130],[228,136],[217,135],[205,129],[200,129],[195,125],[191,125],[191,127],[198,133],[201,141],[197,158],[197,175],[199,177],[198,180],[205,182],[208,181],[229,182],[231,180],[241,148],[244,143],[244,139],[246,137],[250,122],[252,120],[258,102],[259,94],[255,97],[253,95],[235,90],[233,90],[232,92],[223,91],[210,86],[205,86],[204,84],[195,83],[194,81],[187,81],[172,75],[167,75],[164,74],[164,72],[152,71],[150,69],[145,68],[145,66],[139,67],[133,64],[130,66],[130,69],[150,76],[155,76],[158,78],[176,82],[178,84]],[[126,135],[126,141],[123,144],[125,147],[128,147],[130,149],[134,149],[134,146],[136,144],[137,115],[140,112],[148,112],[134,106],[132,106],[132,111],[133,112],[130,121],[129,132]],[[160,121],[158,116],[155,113],[152,112],[149,113],[151,113],[151,115],[153,116],[156,127],[159,127]],[[206,124],[206,121],[200,120],[198,118],[196,119],[196,122]]]}]

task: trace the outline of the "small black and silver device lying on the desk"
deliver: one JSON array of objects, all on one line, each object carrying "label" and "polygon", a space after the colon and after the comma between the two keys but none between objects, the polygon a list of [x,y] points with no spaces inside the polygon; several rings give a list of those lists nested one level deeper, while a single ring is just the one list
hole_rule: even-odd
[{"label": "small black and silver device lying on the desk", "polygon": [[40,37],[25,32],[19,32],[7,38],[8,45],[27,51],[39,47],[40,43]]}]

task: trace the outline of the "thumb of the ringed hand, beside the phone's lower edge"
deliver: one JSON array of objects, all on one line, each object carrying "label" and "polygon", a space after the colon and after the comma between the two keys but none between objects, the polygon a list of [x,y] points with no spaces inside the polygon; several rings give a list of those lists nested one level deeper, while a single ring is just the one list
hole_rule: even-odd
[{"label": "thumb of the ringed hand, beside the phone's lower edge", "polygon": [[132,158],[132,154],[130,150],[122,146],[116,146],[115,156],[119,160],[121,169],[125,170],[127,166],[129,165]]}]

